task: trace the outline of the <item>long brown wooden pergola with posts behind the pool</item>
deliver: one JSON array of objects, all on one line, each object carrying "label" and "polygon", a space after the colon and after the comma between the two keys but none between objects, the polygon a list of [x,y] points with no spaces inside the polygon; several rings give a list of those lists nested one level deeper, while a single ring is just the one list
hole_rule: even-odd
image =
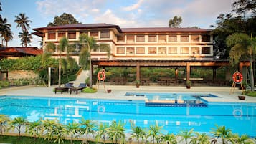
[{"label": "long brown wooden pergola with posts behind the pool", "polygon": [[[240,62],[239,71],[249,66],[250,62]],[[136,80],[140,80],[141,67],[186,67],[186,80],[190,79],[191,67],[210,67],[213,69],[212,80],[216,80],[216,69],[229,66],[229,60],[92,60],[93,67],[136,67]]]}]

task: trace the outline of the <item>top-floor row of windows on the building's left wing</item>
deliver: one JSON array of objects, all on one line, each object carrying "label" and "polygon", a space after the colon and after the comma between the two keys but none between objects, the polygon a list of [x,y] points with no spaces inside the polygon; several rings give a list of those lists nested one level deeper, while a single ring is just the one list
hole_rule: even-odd
[{"label": "top-floor row of windows on the building's left wing", "polygon": [[[80,32],[80,34],[85,33],[88,34],[88,32]],[[98,31],[97,32],[90,32],[90,36],[94,37],[95,39],[98,39]],[[67,32],[67,36],[66,36],[66,32],[49,32],[48,33],[48,38],[49,40],[54,40],[56,39],[61,39],[62,37],[67,37],[68,39],[77,39],[77,34],[76,32]],[[100,38],[110,38],[110,32],[100,32]]]}]

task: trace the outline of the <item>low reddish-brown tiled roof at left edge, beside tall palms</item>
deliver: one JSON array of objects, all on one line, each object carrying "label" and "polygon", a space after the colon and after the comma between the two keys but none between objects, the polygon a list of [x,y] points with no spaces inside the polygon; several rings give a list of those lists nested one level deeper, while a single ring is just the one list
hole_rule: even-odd
[{"label": "low reddish-brown tiled roof at left edge, beside tall palms", "polygon": [[39,55],[42,54],[42,49],[37,47],[4,47],[0,48],[0,54],[29,54],[29,55]]}]

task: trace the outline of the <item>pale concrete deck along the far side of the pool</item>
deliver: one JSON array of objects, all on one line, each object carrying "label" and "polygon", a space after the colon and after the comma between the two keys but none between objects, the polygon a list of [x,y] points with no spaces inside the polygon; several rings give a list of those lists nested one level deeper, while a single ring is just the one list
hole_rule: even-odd
[{"label": "pale concrete deck along the far side of the pool", "polygon": [[[70,97],[70,98],[95,98],[95,99],[115,99],[115,100],[145,100],[144,97],[134,97],[125,96],[126,92],[200,92],[200,93],[211,93],[213,95],[219,96],[218,98],[204,98],[209,102],[255,102],[256,97],[246,97],[245,100],[238,100],[237,96],[242,95],[242,90],[236,88],[234,93],[230,94],[231,87],[191,87],[191,89],[186,89],[186,87],[164,87],[164,86],[141,86],[136,88],[135,86],[128,85],[105,85],[105,89],[111,89],[112,92],[105,92],[103,85],[100,85],[98,92],[96,93],[84,93],[79,92],[76,95],[74,92],[70,93],[57,92],[54,94],[54,87],[35,87],[35,86],[25,86],[25,87],[13,87],[7,89],[1,89],[0,95],[21,95],[21,96],[42,96],[42,97]],[[93,85],[93,87],[96,87]]]}]

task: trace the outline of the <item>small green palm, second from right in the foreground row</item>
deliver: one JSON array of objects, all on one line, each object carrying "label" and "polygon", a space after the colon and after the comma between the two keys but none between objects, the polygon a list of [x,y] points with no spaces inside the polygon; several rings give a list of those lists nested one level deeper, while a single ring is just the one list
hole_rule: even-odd
[{"label": "small green palm, second from right in the foreground row", "polygon": [[222,138],[222,144],[224,144],[228,140],[231,130],[229,128],[226,129],[225,126],[216,125],[216,128],[212,128],[211,133],[217,138]]}]

